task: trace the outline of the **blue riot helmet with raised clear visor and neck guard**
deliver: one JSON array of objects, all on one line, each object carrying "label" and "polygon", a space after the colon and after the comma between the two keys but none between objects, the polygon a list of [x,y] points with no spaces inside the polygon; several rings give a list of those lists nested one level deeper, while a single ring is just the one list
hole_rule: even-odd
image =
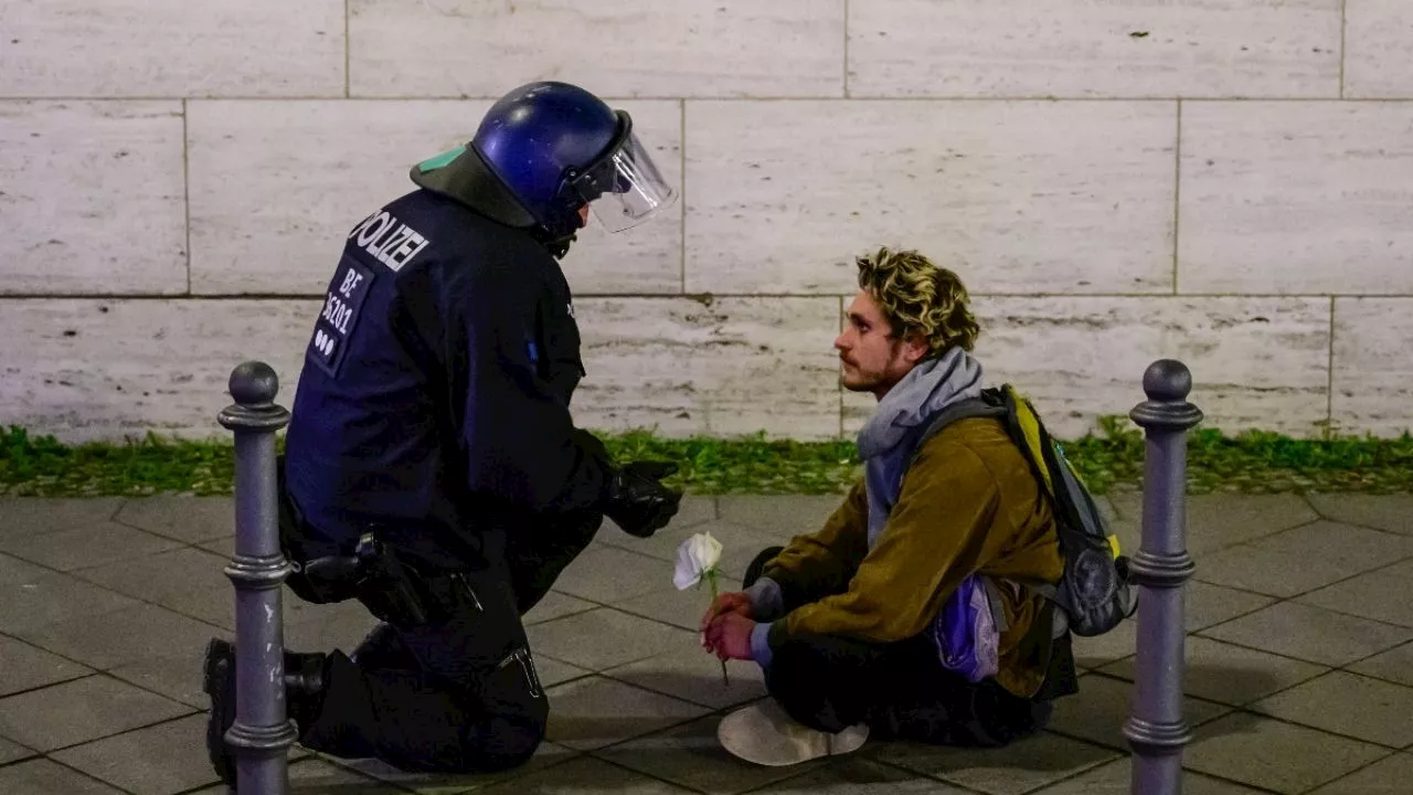
[{"label": "blue riot helmet with raised clear visor and neck guard", "polygon": [[564,82],[512,91],[468,146],[415,166],[413,181],[550,240],[574,235],[584,205],[622,232],[677,198],[627,112]]}]

